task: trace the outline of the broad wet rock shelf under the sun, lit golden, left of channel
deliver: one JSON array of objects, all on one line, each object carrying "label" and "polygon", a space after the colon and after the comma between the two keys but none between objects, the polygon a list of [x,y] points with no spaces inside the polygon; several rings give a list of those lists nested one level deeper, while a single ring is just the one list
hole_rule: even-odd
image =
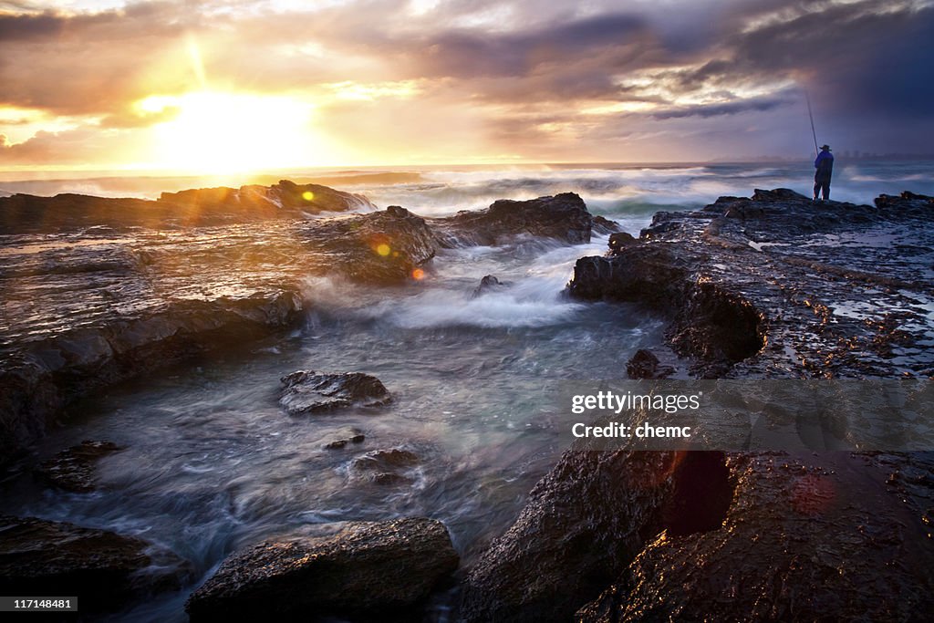
[{"label": "broad wet rock shelf under the sun, lit golden, left of channel", "polygon": [[[360,208],[375,209],[360,195],[287,180],[159,201],[0,199],[9,234],[0,254],[0,464],[90,391],[293,327],[308,274],[398,281],[433,254],[420,219],[421,247],[408,236],[389,258],[367,246],[396,231],[383,228],[386,214],[348,219],[339,240],[330,225],[317,238],[304,226],[311,213]],[[341,247],[360,250],[332,257]]]}]

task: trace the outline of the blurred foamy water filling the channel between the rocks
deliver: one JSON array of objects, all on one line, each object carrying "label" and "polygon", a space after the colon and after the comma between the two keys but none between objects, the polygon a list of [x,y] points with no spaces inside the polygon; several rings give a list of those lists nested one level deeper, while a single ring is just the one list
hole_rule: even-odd
[{"label": "blurred foamy water filling the channel between the rocks", "polygon": [[[639,220],[636,230],[647,224]],[[136,535],[191,561],[189,586],[113,620],[183,621],[186,597],[232,551],[334,521],[435,517],[469,562],[563,449],[559,382],[623,375],[635,350],[661,339],[661,321],[636,307],[562,295],[573,262],[606,242],[523,236],[502,248],[449,249],[424,281],[398,288],[308,277],[304,327],[289,337],[69,407],[76,419],[43,442],[36,461],[84,439],[126,449],[99,463],[92,493],[40,487],[27,471],[8,483],[5,511]],[[502,289],[474,296],[485,275]],[[375,375],[393,402],[290,417],[277,403],[279,378],[309,369]],[[323,447],[351,426],[364,432],[361,445]],[[376,485],[352,467],[397,447],[419,458],[401,486]]]}]

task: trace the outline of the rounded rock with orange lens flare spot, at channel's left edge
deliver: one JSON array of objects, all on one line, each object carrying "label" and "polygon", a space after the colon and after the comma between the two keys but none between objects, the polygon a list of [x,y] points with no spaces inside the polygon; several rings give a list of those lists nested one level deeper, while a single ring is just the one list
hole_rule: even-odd
[{"label": "rounded rock with orange lens flare spot, at channel's left edge", "polygon": [[301,236],[326,272],[382,285],[412,279],[434,257],[436,243],[425,219],[398,205],[362,216],[309,220],[302,223]]}]

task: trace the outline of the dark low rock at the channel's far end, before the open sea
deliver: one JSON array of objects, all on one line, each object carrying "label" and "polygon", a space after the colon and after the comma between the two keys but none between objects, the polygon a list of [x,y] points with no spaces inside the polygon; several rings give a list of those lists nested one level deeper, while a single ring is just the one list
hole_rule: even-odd
[{"label": "dark low rock at the channel's far end, before the open sea", "polygon": [[[577,244],[590,241],[594,225],[584,200],[573,192],[529,201],[501,199],[485,210],[464,210],[446,219],[432,219],[446,247],[499,245],[519,234]],[[615,222],[606,219],[596,221],[596,225],[601,233],[618,229]]]}]

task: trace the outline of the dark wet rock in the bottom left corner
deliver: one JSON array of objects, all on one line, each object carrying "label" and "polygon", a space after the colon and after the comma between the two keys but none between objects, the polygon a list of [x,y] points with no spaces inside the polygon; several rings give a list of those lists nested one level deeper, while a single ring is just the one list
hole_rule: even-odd
[{"label": "dark wet rock in the bottom left corner", "polygon": [[0,517],[0,592],[78,595],[80,612],[117,610],[180,588],[191,568],[139,539],[35,517]]}]

